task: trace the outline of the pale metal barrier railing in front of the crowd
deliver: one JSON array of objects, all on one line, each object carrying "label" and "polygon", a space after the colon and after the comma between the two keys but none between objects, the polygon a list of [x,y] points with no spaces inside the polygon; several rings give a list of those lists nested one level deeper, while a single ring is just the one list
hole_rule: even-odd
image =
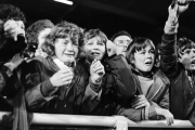
[{"label": "pale metal barrier railing in front of the crowd", "polygon": [[[8,112],[0,112],[0,121]],[[34,113],[30,130],[128,130],[129,129],[195,129],[188,120],[144,120],[133,122],[123,116],[83,116]]]}]

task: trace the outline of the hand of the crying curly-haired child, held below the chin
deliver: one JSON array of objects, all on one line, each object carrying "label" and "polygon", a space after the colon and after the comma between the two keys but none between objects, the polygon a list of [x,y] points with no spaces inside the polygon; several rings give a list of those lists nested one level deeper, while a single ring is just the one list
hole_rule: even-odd
[{"label": "hand of the crying curly-haired child, held below the chin", "polygon": [[50,81],[54,87],[62,87],[69,84],[74,78],[74,74],[70,68],[61,69],[55,73],[51,78]]}]

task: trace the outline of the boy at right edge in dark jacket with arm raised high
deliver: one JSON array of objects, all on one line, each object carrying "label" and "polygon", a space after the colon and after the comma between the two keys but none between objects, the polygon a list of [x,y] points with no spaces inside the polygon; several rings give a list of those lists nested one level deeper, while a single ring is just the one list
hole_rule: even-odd
[{"label": "boy at right edge in dark jacket with arm raised high", "polygon": [[176,119],[195,125],[195,43],[186,38],[177,41],[179,14],[188,8],[185,0],[169,6],[160,51],[161,70],[170,80],[170,112]]}]

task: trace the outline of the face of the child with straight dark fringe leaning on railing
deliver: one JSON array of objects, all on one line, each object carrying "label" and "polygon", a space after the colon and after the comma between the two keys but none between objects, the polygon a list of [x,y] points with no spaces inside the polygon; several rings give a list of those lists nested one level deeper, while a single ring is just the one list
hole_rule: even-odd
[{"label": "face of the child with straight dark fringe leaning on railing", "polygon": [[147,46],[145,49],[135,51],[134,60],[132,60],[132,63],[134,64],[136,69],[147,73],[153,68],[154,58],[155,51],[151,46]]}]

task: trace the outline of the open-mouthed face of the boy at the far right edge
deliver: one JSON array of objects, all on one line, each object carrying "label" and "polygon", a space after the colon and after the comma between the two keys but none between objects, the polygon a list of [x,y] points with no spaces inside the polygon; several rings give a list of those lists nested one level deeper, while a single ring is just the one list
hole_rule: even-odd
[{"label": "open-mouthed face of the boy at the far right edge", "polygon": [[186,70],[195,70],[195,49],[185,49],[179,55],[179,61],[184,65]]}]

